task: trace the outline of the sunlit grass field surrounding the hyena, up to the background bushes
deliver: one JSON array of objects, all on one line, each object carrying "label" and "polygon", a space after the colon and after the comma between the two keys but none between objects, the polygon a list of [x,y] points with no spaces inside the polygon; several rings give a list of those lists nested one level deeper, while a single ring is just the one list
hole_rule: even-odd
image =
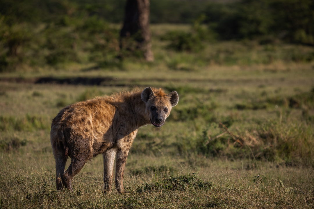
[{"label": "sunlit grass field surrounding the hyena, up to the background bushes", "polygon": [[[228,41],[177,52],[160,40],[172,29],[189,30],[152,26],[154,63],[0,74],[1,208],[314,207],[314,62],[303,59],[313,48]],[[79,84],[100,77],[99,85]],[[36,83],[42,78],[54,80]],[[65,78],[73,85],[59,84]],[[176,90],[179,103],[161,129],[139,130],[126,192],[102,193],[102,156],[75,176],[73,192],[57,192],[52,118],[68,104],[132,86]]]}]

